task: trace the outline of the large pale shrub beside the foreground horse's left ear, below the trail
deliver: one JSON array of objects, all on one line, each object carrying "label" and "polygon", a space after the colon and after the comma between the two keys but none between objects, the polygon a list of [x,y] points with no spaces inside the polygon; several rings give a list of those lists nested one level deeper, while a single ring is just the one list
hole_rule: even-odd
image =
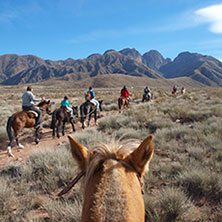
[{"label": "large pale shrub beside the foreground horse's left ear, below the trail", "polygon": [[60,146],[33,152],[22,167],[22,179],[27,182],[35,181],[36,189],[46,192],[69,182],[77,169],[68,149],[68,146]]}]

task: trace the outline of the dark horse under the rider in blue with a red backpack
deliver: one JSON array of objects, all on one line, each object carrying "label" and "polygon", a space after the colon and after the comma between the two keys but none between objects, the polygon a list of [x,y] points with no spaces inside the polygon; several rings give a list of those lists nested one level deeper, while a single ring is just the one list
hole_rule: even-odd
[{"label": "dark horse under the rider in blue with a red backpack", "polygon": [[[98,101],[99,102],[99,110],[102,111],[102,102],[103,100]],[[92,115],[94,114],[94,120],[95,120],[95,124],[97,121],[97,108],[96,105],[91,103],[89,100],[87,100],[86,102],[84,102],[83,104],[80,105],[79,107],[80,109],[80,122],[82,123],[82,128],[85,128],[85,120],[86,117],[88,116],[88,126],[91,120]]]}]

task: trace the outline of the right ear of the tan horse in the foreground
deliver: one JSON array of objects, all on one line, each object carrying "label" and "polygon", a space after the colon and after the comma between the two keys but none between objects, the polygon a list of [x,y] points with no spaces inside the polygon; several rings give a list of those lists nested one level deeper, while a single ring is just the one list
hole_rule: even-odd
[{"label": "right ear of the tan horse in the foreground", "polygon": [[126,161],[142,177],[149,167],[149,162],[153,157],[153,137],[149,135],[137,149],[126,157]]}]

